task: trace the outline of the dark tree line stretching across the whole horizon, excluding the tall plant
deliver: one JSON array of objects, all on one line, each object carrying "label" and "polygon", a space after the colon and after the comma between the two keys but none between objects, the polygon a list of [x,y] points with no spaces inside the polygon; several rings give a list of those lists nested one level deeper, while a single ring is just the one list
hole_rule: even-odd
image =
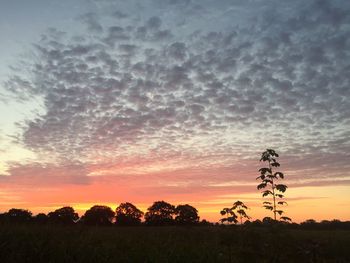
[{"label": "dark tree line stretching across the whole horizon, excluding the tall plant", "polygon": [[[237,203],[238,202],[238,203]],[[242,204],[236,202],[236,213],[241,210]],[[226,208],[227,209],[227,208]],[[306,230],[331,230],[331,229],[347,229],[350,230],[350,221],[342,222],[340,220],[322,220],[317,222],[314,219],[308,219],[300,224],[275,221],[271,217],[264,217],[262,220],[256,219],[250,221],[244,214],[239,213],[238,217],[232,216],[230,209],[226,211],[226,218],[234,218],[220,220],[221,223],[210,223],[205,219],[199,220],[198,211],[188,204],[173,206],[165,201],[154,202],[152,206],[143,213],[135,205],[131,203],[120,204],[115,211],[108,206],[95,205],[88,209],[85,214],[79,217],[74,208],[70,206],[56,209],[48,214],[39,213],[35,216],[29,210],[12,208],[6,213],[0,214],[0,224],[53,224],[53,225],[88,225],[88,226],[223,226],[225,222],[241,223],[243,227],[266,227],[271,225],[279,225],[294,229]],[[221,214],[223,215],[223,212]],[[228,212],[227,212],[228,211]],[[144,218],[144,220],[142,220]],[[243,219],[247,220],[243,222]],[[232,220],[232,221],[231,221]]]}]

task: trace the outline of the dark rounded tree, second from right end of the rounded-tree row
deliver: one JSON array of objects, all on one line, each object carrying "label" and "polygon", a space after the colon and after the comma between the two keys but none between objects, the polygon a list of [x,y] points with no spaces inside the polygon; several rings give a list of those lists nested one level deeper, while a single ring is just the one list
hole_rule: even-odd
[{"label": "dark rounded tree, second from right end of the rounded-tree row", "polygon": [[174,222],[175,207],[164,201],[156,201],[147,209],[145,222],[148,225],[171,225]]}]

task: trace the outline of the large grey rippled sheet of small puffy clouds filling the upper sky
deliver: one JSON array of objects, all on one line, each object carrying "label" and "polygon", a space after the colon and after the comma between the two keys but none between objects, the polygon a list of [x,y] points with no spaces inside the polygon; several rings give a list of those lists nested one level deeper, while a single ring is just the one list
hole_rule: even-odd
[{"label": "large grey rippled sheet of small puffy clouds filling the upper sky", "polygon": [[[288,170],[348,176],[347,4],[296,1],[289,10],[282,2],[256,2],[260,14],[241,13],[227,23],[229,12],[248,4],[201,3],[215,25],[195,13],[188,21],[173,8],[192,10],[194,2],[156,1],[153,13],[145,7],[141,17],[109,10],[118,18],[113,21],[87,13],[80,17],[87,25],[83,42],[46,34],[35,44],[38,59],[28,62],[27,75],[14,74],[6,85],[22,100],[38,96],[45,104],[43,114],[19,124],[20,143],[63,164],[128,160],[135,171],[130,163],[171,160],[159,169],[200,164],[201,173],[242,158],[255,161],[269,146],[288,155]],[[159,12],[169,8],[173,13]],[[244,15],[246,25],[238,21]],[[77,180],[88,183],[89,172],[79,170]],[[18,173],[16,166],[11,173]],[[203,185],[212,177],[204,176]]]}]

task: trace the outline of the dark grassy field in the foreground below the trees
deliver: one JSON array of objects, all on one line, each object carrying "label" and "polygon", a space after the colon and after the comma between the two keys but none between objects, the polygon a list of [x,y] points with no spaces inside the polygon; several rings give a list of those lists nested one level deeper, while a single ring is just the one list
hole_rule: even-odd
[{"label": "dark grassy field in the foreground below the trees", "polygon": [[0,225],[0,262],[350,262],[350,231]]}]

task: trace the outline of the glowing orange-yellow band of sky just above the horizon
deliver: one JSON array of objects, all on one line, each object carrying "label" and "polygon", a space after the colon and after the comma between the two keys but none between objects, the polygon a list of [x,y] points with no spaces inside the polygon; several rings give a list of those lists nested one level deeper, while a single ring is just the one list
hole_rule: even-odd
[{"label": "glowing orange-yellow band of sky just above the horizon", "polygon": [[[63,206],[72,206],[79,215],[93,205],[107,205],[113,210],[122,202],[131,202],[139,209],[146,212],[154,201],[164,200],[173,205],[190,204],[197,208],[201,219],[210,222],[218,222],[220,210],[230,207],[237,200],[243,201],[250,209],[248,214],[252,220],[272,216],[272,212],[262,207],[262,202],[268,199],[262,198],[259,191],[252,187],[250,193],[230,193],[225,189],[222,193],[215,191],[207,194],[157,194],[155,191],[137,194],[138,188],[131,190],[113,183],[94,183],[92,185],[65,186],[60,189],[35,189],[22,192],[3,189],[0,192],[0,212],[6,212],[10,208],[28,209],[37,214],[48,213]],[[133,192],[135,191],[135,192]],[[16,195],[17,192],[17,195]],[[300,223],[307,219],[347,221],[350,219],[349,187],[347,186],[323,186],[323,187],[297,187],[289,188],[286,192],[288,206],[284,208],[286,216],[293,222]]]}]

